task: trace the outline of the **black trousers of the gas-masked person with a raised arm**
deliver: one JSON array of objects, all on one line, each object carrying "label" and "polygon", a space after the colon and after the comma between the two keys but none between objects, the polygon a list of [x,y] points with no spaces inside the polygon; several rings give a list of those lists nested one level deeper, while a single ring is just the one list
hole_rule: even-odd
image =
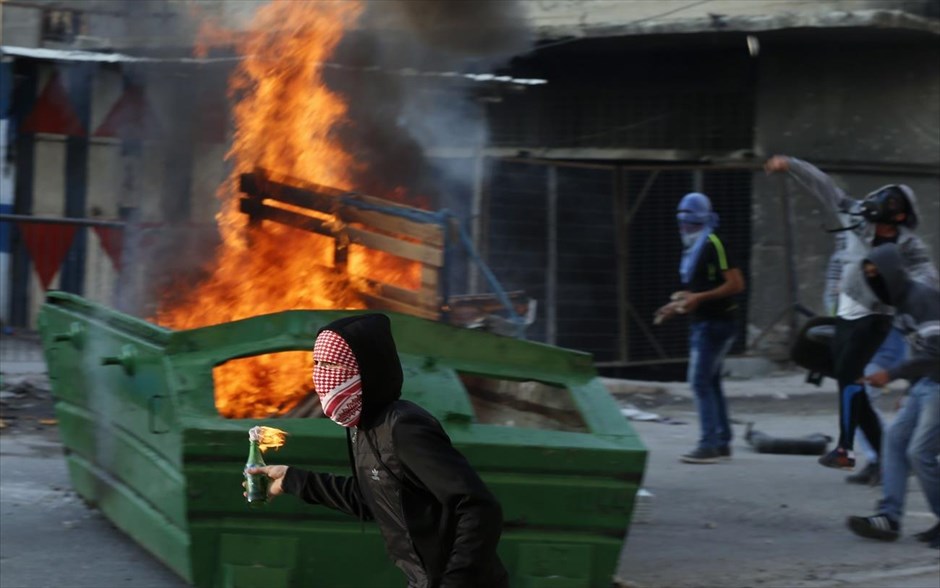
[{"label": "black trousers of the gas-masked person with a raised arm", "polygon": [[857,384],[881,343],[891,331],[891,317],[872,314],[860,319],[836,319],[832,358],[839,384],[839,444],[853,448],[855,429],[861,427],[872,448],[881,452],[881,421],[868,401],[865,386]]}]

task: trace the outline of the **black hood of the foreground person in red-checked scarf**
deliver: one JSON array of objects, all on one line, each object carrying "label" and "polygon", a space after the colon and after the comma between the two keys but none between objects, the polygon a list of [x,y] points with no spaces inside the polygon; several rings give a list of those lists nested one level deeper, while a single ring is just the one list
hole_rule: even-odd
[{"label": "black hood of the foreground person in red-checked scarf", "polygon": [[359,426],[368,428],[381,410],[401,397],[404,376],[392,338],[392,324],[384,314],[357,314],[335,320],[323,331],[343,338],[359,362],[362,376],[362,416]]}]

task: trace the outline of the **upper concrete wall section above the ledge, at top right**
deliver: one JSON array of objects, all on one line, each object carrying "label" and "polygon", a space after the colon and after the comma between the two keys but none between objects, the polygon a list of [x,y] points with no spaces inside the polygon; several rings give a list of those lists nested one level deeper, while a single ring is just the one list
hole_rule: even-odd
[{"label": "upper concrete wall section above the ledge, at top right", "polygon": [[828,161],[940,163],[940,39],[931,40],[765,41],[755,147]]}]

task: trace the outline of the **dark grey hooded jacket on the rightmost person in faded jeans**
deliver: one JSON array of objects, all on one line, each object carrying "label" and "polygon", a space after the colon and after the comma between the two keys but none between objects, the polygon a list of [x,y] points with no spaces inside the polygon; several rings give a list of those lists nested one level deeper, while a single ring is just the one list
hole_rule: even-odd
[{"label": "dark grey hooded jacket on the rightmost person in faded jeans", "polygon": [[940,291],[911,279],[904,271],[900,247],[893,243],[875,247],[867,260],[880,275],[866,278],[865,283],[881,302],[896,309],[894,324],[907,335],[910,347],[907,359],[888,374],[912,383],[924,377],[940,382]]}]

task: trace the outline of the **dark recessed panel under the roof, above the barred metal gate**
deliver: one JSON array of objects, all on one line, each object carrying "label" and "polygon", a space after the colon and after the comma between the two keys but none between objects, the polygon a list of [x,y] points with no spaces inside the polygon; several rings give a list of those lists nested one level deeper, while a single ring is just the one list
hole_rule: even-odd
[{"label": "dark recessed panel under the roof, above the barred metal gate", "polygon": [[706,153],[752,148],[754,63],[746,52],[591,45],[518,62],[514,73],[549,83],[487,103],[490,144]]}]

